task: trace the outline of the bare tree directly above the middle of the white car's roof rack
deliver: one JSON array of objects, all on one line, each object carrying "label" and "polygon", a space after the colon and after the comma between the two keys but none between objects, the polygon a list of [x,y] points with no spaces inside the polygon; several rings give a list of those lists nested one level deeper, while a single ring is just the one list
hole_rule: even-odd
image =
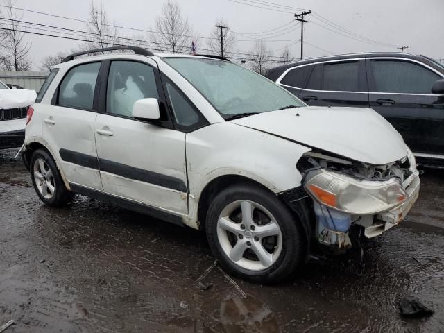
[{"label": "bare tree directly above the middle of the white car's roof rack", "polygon": [[86,49],[103,49],[104,47],[114,46],[119,43],[119,34],[117,27],[111,26],[108,21],[108,15],[103,7],[96,6],[94,1],[89,7],[89,23],[86,24],[88,34],[85,36],[89,42]]}]

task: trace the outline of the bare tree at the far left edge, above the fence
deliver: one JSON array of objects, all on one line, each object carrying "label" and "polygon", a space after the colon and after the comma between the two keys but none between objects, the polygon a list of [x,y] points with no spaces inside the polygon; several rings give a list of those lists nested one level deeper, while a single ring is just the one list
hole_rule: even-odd
[{"label": "bare tree at the far left edge, above the fence", "polygon": [[0,43],[0,67],[15,71],[28,71],[32,65],[28,55],[31,44],[24,40],[25,34],[22,31],[26,26],[23,22],[19,22],[22,20],[23,14],[18,15],[15,12],[15,2],[12,0],[4,0],[3,6],[6,7],[6,22],[2,26],[4,33]]}]

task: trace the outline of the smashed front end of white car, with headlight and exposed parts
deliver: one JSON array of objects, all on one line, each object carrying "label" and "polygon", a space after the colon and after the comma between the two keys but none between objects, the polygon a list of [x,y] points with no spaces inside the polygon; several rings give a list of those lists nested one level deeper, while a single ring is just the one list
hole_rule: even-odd
[{"label": "smashed front end of white car, with headlight and exposed parts", "polygon": [[298,162],[302,185],[313,200],[314,238],[336,249],[352,246],[350,228],[372,238],[404,219],[416,202],[420,180],[411,151],[402,160],[366,164],[310,151]]}]

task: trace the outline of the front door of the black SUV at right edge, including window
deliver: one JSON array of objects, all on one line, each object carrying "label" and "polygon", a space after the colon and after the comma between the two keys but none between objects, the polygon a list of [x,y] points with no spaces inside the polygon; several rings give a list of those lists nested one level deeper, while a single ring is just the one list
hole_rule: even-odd
[{"label": "front door of the black SUV at right edge, including window", "polygon": [[444,98],[432,94],[442,78],[409,59],[367,60],[370,108],[382,114],[416,153],[444,155]]}]

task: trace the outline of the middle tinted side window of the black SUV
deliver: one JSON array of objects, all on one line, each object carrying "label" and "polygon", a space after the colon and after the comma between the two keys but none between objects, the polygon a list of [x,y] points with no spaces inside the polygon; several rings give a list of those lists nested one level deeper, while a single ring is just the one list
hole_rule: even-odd
[{"label": "middle tinted side window of the black SUV", "polygon": [[338,92],[358,92],[358,62],[354,61],[325,64],[323,90],[334,90]]}]

